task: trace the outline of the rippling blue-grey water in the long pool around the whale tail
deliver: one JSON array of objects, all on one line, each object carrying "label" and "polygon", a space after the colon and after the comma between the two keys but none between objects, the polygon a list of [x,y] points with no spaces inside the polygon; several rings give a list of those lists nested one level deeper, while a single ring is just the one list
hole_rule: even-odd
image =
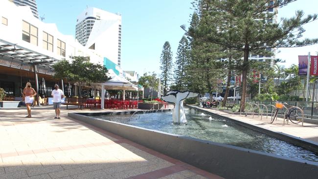
[{"label": "rippling blue-grey water in the long pool around the whale tail", "polygon": [[195,109],[185,108],[184,110],[188,121],[186,125],[173,125],[172,112],[134,114],[133,116],[132,114],[105,115],[96,116],[96,118],[318,162],[318,154],[302,147],[251,130],[231,120],[214,118]]}]

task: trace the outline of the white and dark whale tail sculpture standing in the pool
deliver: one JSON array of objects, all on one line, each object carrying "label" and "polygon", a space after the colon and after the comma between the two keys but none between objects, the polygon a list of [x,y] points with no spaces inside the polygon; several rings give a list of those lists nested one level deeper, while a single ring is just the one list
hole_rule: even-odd
[{"label": "white and dark whale tail sculpture standing in the pool", "polygon": [[196,97],[199,93],[193,91],[170,90],[166,95],[161,95],[161,99],[165,102],[175,103],[172,112],[174,123],[186,123],[185,113],[183,109],[183,100],[190,97]]}]

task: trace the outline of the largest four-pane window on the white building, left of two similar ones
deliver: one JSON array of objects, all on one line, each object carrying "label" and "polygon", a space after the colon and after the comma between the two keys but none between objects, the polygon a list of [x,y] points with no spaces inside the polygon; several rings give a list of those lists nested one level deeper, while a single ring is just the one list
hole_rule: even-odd
[{"label": "largest four-pane window on the white building, left of two similar ones", "polygon": [[38,45],[38,28],[23,21],[22,40],[33,45]]}]

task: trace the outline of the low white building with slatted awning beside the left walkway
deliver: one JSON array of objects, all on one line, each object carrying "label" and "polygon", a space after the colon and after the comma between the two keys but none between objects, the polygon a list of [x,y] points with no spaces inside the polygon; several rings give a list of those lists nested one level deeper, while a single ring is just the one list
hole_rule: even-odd
[{"label": "low white building with slatted awning beside the left walkway", "polygon": [[53,78],[51,65],[63,58],[70,60],[71,56],[89,56],[92,63],[104,64],[102,55],[79,44],[73,36],[63,35],[54,23],[34,17],[29,6],[1,0],[0,88],[8,95],[18,97],[26,82],[35,88],[42,78],[46,81],[46,96],[50,95],[49,87],[52,90],[55,83],[62,83]]}]

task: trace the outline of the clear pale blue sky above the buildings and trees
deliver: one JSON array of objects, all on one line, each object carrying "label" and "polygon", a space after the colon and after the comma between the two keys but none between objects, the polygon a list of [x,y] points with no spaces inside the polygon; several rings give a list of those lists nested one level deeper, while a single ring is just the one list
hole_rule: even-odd
[{"label": "clear pale blue sky above the buildings and trees", "polygon": [[[77,16],[87,6],[105,11],[121,13],[122,42],[121,68],[144,72],[160,73],[160,54],[163,44],[168,41],[175,61],[179,41],[184,34],[180,25],[189,26],[193,13],[192,0],[37,0],[39,16],[43,22],[56,23],[60,32],[75,37]],[[305,14],[317,13],[318,0],[297,0],[279,8],[281,18],[295,15],[296,10]],[[318,38],[318,21],[305,26],[304,37]],[[276,58],[285,60],[285,67],[298,64],[298,55],[317,55],[318,45],[297,48],[278,48]]]}]

